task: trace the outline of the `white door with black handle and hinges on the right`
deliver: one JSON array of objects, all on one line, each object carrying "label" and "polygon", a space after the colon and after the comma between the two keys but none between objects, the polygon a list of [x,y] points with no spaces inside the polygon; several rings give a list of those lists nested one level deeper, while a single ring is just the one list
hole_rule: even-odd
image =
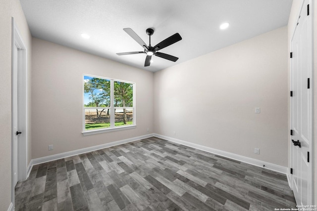
[{"label": "white door with black handle and hinges on the right", "polygon": [[292,39],[292,188],[298,205],[312,204],[312,25],[310,0],[303,0]]}]

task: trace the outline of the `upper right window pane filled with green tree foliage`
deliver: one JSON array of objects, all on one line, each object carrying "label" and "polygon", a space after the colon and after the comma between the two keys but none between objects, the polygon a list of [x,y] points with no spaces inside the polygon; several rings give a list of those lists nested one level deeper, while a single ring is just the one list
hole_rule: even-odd
[{"label": "upper right window pane filled with green tree foliage", "polygon": [[133,84],[114,81],[114,107],[133,107]]}]

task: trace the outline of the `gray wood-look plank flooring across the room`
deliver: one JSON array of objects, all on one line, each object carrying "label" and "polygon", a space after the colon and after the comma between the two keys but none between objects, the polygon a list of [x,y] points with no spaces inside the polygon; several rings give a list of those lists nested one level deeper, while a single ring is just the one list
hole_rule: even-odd
[{"label": "gray wood-look plank flooring across the room", "polygon": [[151,137],[34,166],[15,211],[296,208],[286,175]]}]

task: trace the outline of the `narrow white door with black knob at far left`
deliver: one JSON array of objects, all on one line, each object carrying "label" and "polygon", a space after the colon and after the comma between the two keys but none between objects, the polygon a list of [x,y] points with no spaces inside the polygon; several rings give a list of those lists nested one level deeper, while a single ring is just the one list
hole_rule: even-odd
[{"label": "narrow white door with black knob at far left", "polygon": [[18,48],[16,45],[14,45],[13,48],[13,185],[15,186],[18,182],[18,139],[19,135],[16,133],[18,128]]}]

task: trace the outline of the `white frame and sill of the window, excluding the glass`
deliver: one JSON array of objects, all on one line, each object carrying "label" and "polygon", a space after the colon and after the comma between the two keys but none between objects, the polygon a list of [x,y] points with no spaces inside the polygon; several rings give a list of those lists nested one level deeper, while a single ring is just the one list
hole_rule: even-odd
[{"label": "white frame and sill of the window, excluding the glass", "polygon": [[[99,79],[105,79],[110,81],[110,107],[85,107],[85,90],[84,90],[84,77],[93,77],[93,78],[99,78]],[[131,129],[136,127],[136,121],[135,121],[135,83],[134,82],[128,82],[128,81],[122,81],[118,79],[111,79],[111,78],[105,78],[101,76],[94,76],[94,75],[89,75],[89,74],[83,74],[83,135],[91,135],[91,134],[97,134],[97,133],[103,133],[103,132],[111,132],[111,131],[117,131],[117,130],[124,130],[124,129]],[[128,83],[128,84],[133,84],[133,107],[114,107],[114,82],[123,82],[123,83]],[[91,129],[91,130],[86,130],[85,128],[85,109],[109,109],[110,111],[110,127],[106,128],[101,128],[101,129]],[[114,126],[115,122],[115,109],[132,109],[133,112],[133,120],[132,120],[132,125],[128,126]]]}]

